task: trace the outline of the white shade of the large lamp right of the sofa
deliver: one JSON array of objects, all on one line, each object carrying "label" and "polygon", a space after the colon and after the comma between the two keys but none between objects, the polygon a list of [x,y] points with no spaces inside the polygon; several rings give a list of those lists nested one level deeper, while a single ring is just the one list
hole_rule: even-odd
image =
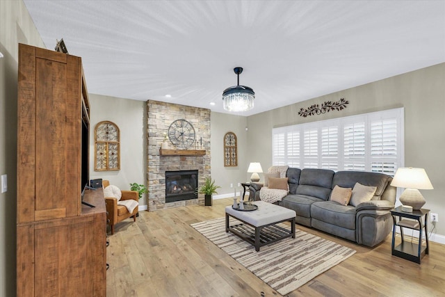
[{"label": "white shade of the large lamp right of the sofa", "polygon": [[419,190],[430,190],[432,184],[425,169],[423,168],[398,168],[391,186],[400,188],[416,188]]}]

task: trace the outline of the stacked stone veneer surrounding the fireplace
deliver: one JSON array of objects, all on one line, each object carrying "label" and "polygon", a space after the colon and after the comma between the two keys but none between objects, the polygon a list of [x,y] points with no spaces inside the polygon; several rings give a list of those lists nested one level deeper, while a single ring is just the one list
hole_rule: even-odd
[{"label": "stacked stone veneer surrounding the fireplace", "polygon": [[[204,156],[160,156],[159,149],[170,124],[178,119],[191,122],[195,128],[195,143],[187,150],[206,150]],[[198,186],[210,176],[210,109],[147,101],[147,188],[149,211],[191,204],[204,204],[204,195],[198,199],[165,203],[165,171],[198,170]],[[202,146],[200,139],[202,138]],[[168,141],[170,149],[177,149]]]}]

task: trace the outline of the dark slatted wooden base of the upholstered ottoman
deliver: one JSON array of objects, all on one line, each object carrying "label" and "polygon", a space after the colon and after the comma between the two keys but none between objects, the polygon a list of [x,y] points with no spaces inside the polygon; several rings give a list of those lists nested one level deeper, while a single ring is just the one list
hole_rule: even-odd
[{"label": "dark slatted wooden base of the upholstered ottoman", "polygon": [[[244,220],[241,220],[240,218],[232,216],[232,218],[235,218],[242,223],[230,226],[229,216],[232,215],[227,213],[225,214],[225,232],[232,232],[241,239],[251,243],[257,252],[261,246],[266,246],[269,243],[273,243],[291,236],[292,238],[295,238],[295,217],[280,220],[268,225],[254,226],[245,222]],[[291,230],[287,230],[286,228],[277,225],[278,223],[283,222],[290,222]]]}]

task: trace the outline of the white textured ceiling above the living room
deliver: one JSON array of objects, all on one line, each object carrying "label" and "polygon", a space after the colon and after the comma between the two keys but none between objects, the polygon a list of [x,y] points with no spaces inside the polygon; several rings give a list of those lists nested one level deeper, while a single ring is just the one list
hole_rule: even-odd
[{"label": "white textured ceiling above the living room", "polygon": [[256,96],[236,114],[253,115],[445,62],[445,1],[24,3],[48,49],[82,57],[88,92],[222,113],[236,66]]}]

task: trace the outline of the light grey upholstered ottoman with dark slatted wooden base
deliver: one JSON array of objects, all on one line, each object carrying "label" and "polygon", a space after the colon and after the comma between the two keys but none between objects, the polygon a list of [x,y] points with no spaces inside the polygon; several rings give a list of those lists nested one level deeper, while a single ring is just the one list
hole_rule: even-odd
[{"label": "light grey upholstered ottoman with dark slatted wooden base", "polygon": [[[232,232],[252,243],[257,252],[266,244],[290,236],[295,238],[295,211],[263,201],[255,201],[253,204],[257,205],[258,209],[239,211],[233,209],[232,205],[225,207],[225,232]],[[229,216],[242,223],[229,225]],[[286,221],[291,223],[291,230],[277,225]]]}]

